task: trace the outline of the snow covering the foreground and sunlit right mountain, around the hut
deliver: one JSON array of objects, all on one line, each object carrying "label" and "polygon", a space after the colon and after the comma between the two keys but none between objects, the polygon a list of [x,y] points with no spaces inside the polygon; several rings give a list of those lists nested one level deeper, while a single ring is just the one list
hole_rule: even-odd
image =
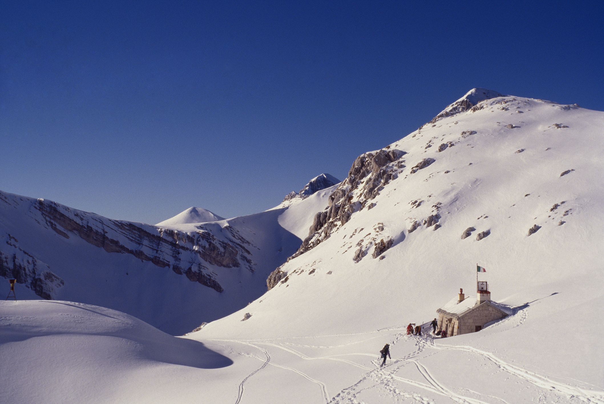
[{"label": "snow covering the foreground and sunlit right mountain, around the hut", "polygon": [[[170,339],[98,307],[1,302],[0,397],[604,403],[604,112],[521,97],[478,106],[391,144],[406,152],[405,167],[373,208],[289,260],[287,279],[265,295],[198,332]],[[425,158],[434,162],[411,174]],[[440,228],[408,232],[435,213]],[[300,236],[309,220],[277,219]],[[529,236],[533,225],[540,227]],[[475,231],[461,239],[469,227]],[[483,231],[490,233],[477,240]],[[373,258],[373,244],[388,237],[396,243]],[[358,248],[368,254],[355,263]],[[460,287],[471,298],[477,263],[510,315],[477,333],[434,338],[429,322]],[[245,313],[251,317],[241,321]],[[123,329],[101,327],[114,321],[105,315]],[[406,335],[409,322],[424,324],[423,335]],[[170,347],[161,358],[153,356],[158,341]],[[379,367],[387,343],[392,359]],[[182,352],[198,362],[183,363]]]}]

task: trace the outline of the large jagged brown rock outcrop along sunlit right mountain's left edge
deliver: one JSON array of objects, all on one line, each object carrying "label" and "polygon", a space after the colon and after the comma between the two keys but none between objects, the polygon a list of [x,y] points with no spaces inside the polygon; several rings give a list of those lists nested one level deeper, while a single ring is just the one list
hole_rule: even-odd
[{"label": "large jagged brown rock outcrop along sunlit right mountain's left edge", "polygon": [[348,177],[329,196],[327,209],[315,215],[309,236],[288,261],[329,238],[335,229],[348,222],[353,213],[371,204],[384,186],[396,178],[397,170],[405,167],[400,161],[403,155],[405,152],[402,150],[382,149],[356,158]]}]

